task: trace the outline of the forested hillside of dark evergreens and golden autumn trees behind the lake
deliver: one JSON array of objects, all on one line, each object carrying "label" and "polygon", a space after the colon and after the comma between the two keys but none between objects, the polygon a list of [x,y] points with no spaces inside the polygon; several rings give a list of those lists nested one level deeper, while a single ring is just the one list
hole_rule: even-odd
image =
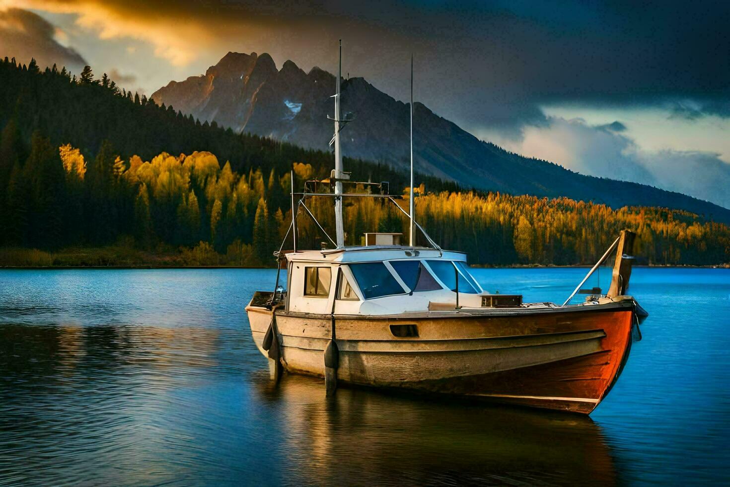
[{"label": "forested hillside of dark evergreens and golden autumn trees behind the lake", "polygon": [[[105,76],[95,81],[90,70],[76,80],[63,70],[40,73],[32,63],[6,61],[0,85],[4,248],[123,242],[151,252],[176,249],[200,264],[272,265],[291,221],[290,169],[301,188],[331,167],[328,153],[201,124],[118,91]],[[359,179],[390,180],[391,193],[404,189],[404,175],[385,166],[346,164]],[[473,264],[584,264],[623,228],[639,232],[642,261],[650,264],[730,261],[729,227],[688,212],[460,192],[434,178],[418,180],[418,221],[445,248],[468,252]],[[407,228],[392,204],[360,200],[345,207],[348,243],[364,231]],[[329,204],[310,205],[326,228]],[[326,241],[306,215],[299,221],[303,243]]]}]

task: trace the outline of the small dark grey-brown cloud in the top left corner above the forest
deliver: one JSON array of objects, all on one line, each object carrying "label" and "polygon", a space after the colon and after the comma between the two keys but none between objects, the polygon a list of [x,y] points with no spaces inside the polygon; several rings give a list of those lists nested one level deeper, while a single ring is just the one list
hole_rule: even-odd
[{"label": "small dark grey-brown cloud in the top left corner above the forest", "polygon": [[41,68],[57,64],[74,71],[86,64],[72,47],[59,44],[57,29],[47,20],[27,10],[0,9],[0,55],[15,57],[28,64],[36,58]]}]

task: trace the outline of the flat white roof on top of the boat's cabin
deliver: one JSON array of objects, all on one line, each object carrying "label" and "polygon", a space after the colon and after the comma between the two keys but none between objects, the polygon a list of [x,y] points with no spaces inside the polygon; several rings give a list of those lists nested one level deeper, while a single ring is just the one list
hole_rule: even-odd
[{"label": "flat white roof on top of the boat's cabin", "polygon": [[430,247],[404,245],[369,245],[342,249],[298,250],[287,253],[289,262],[377,262],[406,258],[443,258],[448,261],[466,262],[466,254],[453,250],[436,250]]}]

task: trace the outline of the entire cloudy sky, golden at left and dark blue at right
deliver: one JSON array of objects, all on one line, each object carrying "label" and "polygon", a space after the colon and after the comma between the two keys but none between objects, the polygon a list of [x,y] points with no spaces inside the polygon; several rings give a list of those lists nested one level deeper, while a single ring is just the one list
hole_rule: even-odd
[{"label": "entire cloudy sky, golden at left and dark blue at right", "polygon": [[730,2],[0,0],[0,55],[153,91],[228,51],[337,69],[480,139],[730,207]]}]

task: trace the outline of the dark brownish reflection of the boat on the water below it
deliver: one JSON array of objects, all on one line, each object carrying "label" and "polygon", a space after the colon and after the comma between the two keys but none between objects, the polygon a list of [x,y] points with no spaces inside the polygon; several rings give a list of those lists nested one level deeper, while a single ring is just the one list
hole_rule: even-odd
[{"label": "dark brownish reflection of the boat on the water below it", "polygon": [[610,447],[585,415],[361,388],[326,396],[323,380],[299,375],[257,382],[283,421],[277,469],[292,483],[618,483]]}]

